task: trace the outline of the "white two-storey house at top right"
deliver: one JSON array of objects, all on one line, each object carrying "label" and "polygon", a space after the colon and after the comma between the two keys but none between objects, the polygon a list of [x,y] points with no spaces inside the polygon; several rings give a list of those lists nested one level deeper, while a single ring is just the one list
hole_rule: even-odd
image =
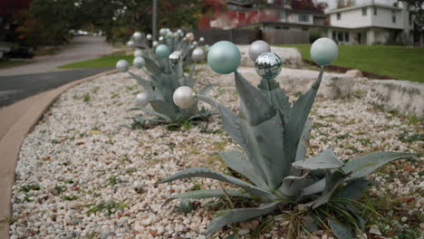
[{"label": "white two-storey house at top right", "polygon": [[408,8],[401,2],[399,6],[371,3],[327,11],[327,37],[348,44],[410,44],[414,25]]}]

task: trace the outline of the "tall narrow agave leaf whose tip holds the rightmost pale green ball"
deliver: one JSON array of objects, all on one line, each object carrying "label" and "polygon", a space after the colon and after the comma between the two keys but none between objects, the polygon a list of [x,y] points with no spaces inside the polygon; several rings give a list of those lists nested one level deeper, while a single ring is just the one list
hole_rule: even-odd
[{"label": "tall narrow agave leaf whose tip holds the rightmost pale green ball", "polygon": [[284,150],[285,158],[292,160],[296,158],[297,146],[304,131],[304,125],[309,117],[309,112],[312,109],[313,101],[323,79],[323,69],[318,76],[318,79],[313,82],[313,85],[303,95],[297,99],[289,113],[287,125],[284,128]]}]

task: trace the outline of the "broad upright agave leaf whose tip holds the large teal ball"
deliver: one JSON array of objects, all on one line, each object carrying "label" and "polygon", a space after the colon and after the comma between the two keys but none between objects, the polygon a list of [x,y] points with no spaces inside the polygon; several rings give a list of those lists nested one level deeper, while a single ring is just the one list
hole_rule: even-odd
[{"label": "broad upright agave leaf whose tip holds the large teal ball", "polygon": [[[262,92],[255,88],[238,72],[236,75],[236,90],[240,96],[240,110],[250,125],[258,125],[276,115],[275,108],[265,98]],[[280,124],[281,125],[281,124]]]}]

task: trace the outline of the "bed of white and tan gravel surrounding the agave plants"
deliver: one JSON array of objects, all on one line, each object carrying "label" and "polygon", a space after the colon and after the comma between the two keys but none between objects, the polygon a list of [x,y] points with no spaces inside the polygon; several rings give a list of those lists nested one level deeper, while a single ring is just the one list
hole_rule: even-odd
[{"label": "bed of white and tan gravel surrounding the agave plants", "polygon": [[[198,72],[198,89],[210,75]],[[141,87],[127,74],[106,75],[65,91],[45,112],[19,154],[12,239],[206,238],[201,233],[215,214],[215,199],[200,200],[198,209],[188,215],[178,212],[178,200],[162,204],[171,194],[193,186],[219,188],[220,184],[199,178],[161,185],[158,181],[187,167],[223,169],[213,153],[238,147],[219,130],[218,116],[181,131],[164,126],[121,128],[139,113],[129,111],[139,91]],[[234,87],[215,87],[209,95],[235,110],[235,92]],[[377,150],[420,153],[421,158],[413,162],[384,167],[375,175],[381,186],[372,190],[381,196],[388,192],[412,196],[414,200],[402,206],[411,215],[422,214],[424,143],[411,137],[422,135],[423,126],[376,109],[364,100],[365,92],[358,83],[356,95],[349,99],[314,104],[313,151],[333,148],[342,159]],[[402,220],[397,223],[408,225],[408,218]],[[275,226],[262,237],[280,238],[280,231]],[[221,234],[228,233],[226,229]]]}]

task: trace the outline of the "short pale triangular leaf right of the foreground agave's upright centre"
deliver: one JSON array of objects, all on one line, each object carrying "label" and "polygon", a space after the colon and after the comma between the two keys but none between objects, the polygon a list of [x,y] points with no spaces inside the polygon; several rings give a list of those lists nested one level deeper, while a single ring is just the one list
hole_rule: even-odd
[{"label": "short pale triangular leaf right of the foreground agave's upright centre", "polygon": [[313,158],[295,161],[292,164],[293,167],[306,170],[333,169],[342,167],[343,165],[343,162],[334,155],[330,148],[315,155]]}]

